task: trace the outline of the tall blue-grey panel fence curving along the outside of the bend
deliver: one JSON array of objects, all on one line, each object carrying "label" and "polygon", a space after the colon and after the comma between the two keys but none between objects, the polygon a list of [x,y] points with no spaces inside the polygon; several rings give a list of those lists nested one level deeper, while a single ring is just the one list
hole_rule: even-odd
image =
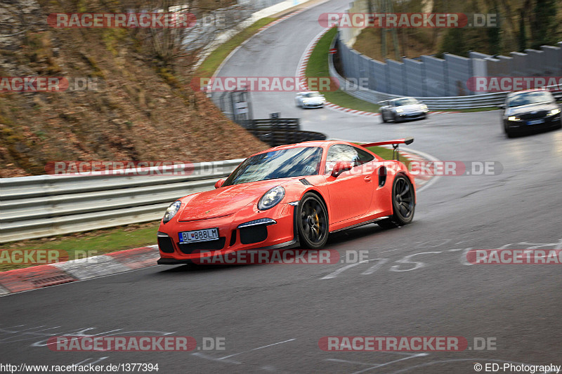
[{"label": "tall blue-grey panel fence curving along the outside of the bend", "polygon": [[[367,0],[355,0],[348,13],[368,13],[369,10]],[[501,102],[505,93],[471,91],[473,87],[466,83],[472,77],[562,76],[562,42],[556,46],[542,46],[540,51],[527,49],[525,53],[511,52],[509,56],[470,52],[469,57],[465,58],[445,53],[443,59],[422,55],[417,59],[386,59],[381,62],[352,48],[362,28],[340,27],[334,47],[337,48],[341,72],[346,79],[366,81],[365,88],[368,91],[397,97],[431,98],[429,100],[442,108],[447,107],[445,102],[452,102],[453,105],[459,103],[460,107],[465,107],[462,98],[473,95],[480,97],[474,100],[476,105],[488,107]],[[367,101],[374,102],[368,98]],[[424,100],[426,101],[428,100]],[[438,109],[437,106],[433,108]]]}]

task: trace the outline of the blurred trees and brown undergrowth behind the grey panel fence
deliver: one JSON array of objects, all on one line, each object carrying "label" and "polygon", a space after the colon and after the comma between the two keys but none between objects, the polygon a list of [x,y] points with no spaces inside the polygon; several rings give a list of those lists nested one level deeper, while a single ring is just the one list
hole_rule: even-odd
[{"label": "blurred trees and brown undergrowth behind the grey panel fence", "polygon": [[[368,0],[373,9],[383,4]],[[388,6],[388,5],[387,5]],[[353,48],[375,60],[417,58],[443,53],[468,56],[469,51],[509,55],[526,48],[554,45],[562,39],[562,2],[556,0],[409,0],[393,1],[396,13],[499,14],[498,27],[399,28],[367,27]],[[384,13],[384,12],[381,12]]]}]

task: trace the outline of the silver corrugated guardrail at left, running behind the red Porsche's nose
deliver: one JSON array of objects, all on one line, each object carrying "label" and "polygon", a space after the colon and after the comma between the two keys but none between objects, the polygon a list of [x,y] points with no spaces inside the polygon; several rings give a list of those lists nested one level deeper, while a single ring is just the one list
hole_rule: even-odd
[{"label": "silver corrugated guardrail at left, running behind the red Porsche's nose", "polygon": [[1,178],[0,243],[158,220],[171,202],[212,189],[242,161],[176,166],[189,170],[186,175],[131,175],[139,169],[128,169],[129,175]]}]

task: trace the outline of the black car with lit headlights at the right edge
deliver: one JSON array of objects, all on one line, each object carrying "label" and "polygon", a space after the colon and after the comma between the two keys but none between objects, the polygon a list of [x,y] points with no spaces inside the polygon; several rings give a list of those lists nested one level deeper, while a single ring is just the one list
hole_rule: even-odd
[{"label": "black car with lit headlights at the right edge", "polygon": [[560,107],[549,91],[509,93],[503,109],[504,131],[509,138],[517,133],[562,128]]}]

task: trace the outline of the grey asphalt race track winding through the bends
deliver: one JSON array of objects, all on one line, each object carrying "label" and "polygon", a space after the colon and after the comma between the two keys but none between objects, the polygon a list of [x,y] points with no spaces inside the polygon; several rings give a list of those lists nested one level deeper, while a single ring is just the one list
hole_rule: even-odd
[{"label": "grey asphalt race track winding through the bends", "polygon": [[[221,75],[288,76],[329,1],[252,39]],[[562,131],[507,139],[498,112],[424,121],[306,110],[292,93],[254,93],[256,117],[300,116],[332,138],[413,135],[441,160],[495,161],[498,175],[441,177],[419,193],[412,225],[367,225],[327,248],[367,262],[192,269],[158,266],[0,298],[3,363],[159,363],[159,373],[475,373],[474,363],[562,365],[562,289],[556,265],[469,265],[469,248],[562,248]],[[259,108],[259,109],[258,109]],[[261,114],[260,114],[261,113]],[[53,335],[224,338],[223,351],[52,352]],[[325,336],[491,338],[464,352],[324,352]],[[509,372],[509,371],[506,371]]]}]

